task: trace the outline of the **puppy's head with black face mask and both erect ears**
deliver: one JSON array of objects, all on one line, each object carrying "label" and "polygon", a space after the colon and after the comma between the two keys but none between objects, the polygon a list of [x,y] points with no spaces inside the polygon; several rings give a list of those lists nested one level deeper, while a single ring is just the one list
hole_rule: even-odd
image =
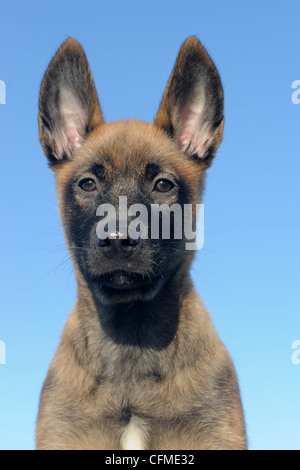
[{"label": "puppy's head with black face mask and both erect ears", "polygon": [[[105,123],[82,47],[68,39],[58,50],[41,85],[40,141],[56,173],[77,274],[102,302],[154,298],[173,273],[189,267],[182,212],[177,219],[192,205],[195,222],[223,123],[221,81],[195,37],[179,51],[153,124]],[[168,213],[172,206],[177,214]]]}]

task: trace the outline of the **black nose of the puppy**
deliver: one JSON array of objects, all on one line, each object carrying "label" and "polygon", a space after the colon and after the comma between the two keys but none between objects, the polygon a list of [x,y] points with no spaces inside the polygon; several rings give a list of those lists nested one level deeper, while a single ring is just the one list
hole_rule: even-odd
[{"label": "black nose of the puppy", "polygon": [[121,238],[119,232],[110,234],[104,240],[98,238],[98,246],[109,258],[124,258],[130,256],[140,244],[140,237]]}]

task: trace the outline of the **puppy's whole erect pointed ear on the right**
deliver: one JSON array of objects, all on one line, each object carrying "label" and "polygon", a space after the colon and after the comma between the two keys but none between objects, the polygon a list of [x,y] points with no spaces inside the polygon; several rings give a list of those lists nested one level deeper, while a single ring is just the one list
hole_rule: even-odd
[{"label": "puppy's whole erect pointed ear on the right", "polygon": [[196,37],[178,53],[154,124],[188,157],[209,165],[223,137],[223,88],[209,55]]}]

